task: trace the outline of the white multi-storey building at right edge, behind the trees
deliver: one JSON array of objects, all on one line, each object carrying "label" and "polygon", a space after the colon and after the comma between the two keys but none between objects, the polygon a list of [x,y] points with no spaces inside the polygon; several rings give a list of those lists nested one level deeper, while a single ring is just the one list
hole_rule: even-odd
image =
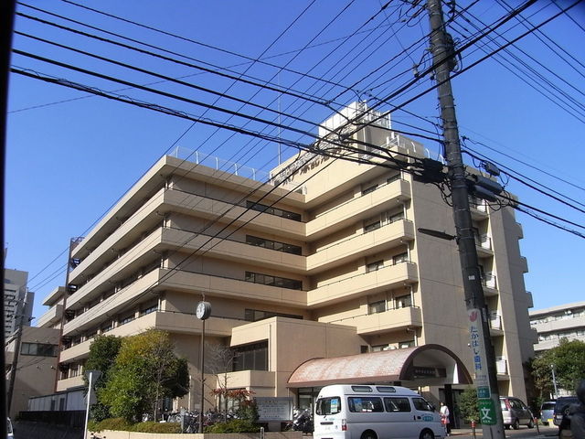
[{"label": "white multi-storey building at right edge, behind the trees", "polygon": [[561,338],[585,341],[585,302],[532,310],[530,326],[538,333],[537,352],[555,348]]}]

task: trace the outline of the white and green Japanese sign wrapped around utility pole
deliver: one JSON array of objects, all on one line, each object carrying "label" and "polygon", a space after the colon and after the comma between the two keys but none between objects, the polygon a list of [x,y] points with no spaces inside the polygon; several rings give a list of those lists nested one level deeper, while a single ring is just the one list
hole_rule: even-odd
[{"label": "white and green Japanese sign wrapped around utility pole", "polygon": [[487,361],[484,346],[484,327],[482,326],[482,313],[479,309],[469,309],[469,337],[473,352],[473,372],[475,386],[477,387],[478,407],[481,422],[484,425],[495,425],[495,407],[491,400],[490,380],[487,371]]}]

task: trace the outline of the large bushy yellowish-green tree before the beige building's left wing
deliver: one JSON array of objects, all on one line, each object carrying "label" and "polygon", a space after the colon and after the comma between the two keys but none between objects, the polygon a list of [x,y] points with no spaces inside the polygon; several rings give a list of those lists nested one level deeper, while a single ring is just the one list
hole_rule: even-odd
[{"label": "large bushy yellowish-green tree before the beige building's left wing", "polygon": [[145,412],[153,412],[156,421],[163,398],[187,391],[186,359],[176,357],[166,332],[149,329],[122,339],[110,379],[98,398],[114,416],[137,421]]}]

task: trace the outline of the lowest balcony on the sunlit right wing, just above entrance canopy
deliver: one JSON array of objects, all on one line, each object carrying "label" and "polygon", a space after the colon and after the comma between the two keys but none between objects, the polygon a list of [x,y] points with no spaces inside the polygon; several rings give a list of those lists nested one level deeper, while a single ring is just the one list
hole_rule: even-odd
[{"label": "lowest balcony on the sunlit right wing, just above entrance canopy", "polygon": [[360,336],[371,336],[388,331],[405,330],[408,327],[422,327],[422,312],[417,306],[406,306],[330,323],[356,327],[357,334]]}]

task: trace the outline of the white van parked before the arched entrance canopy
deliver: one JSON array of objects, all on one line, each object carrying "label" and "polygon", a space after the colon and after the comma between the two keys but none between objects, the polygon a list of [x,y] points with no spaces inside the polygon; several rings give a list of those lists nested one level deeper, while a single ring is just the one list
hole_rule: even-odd
[{"label": "white van parked before the arched entrance canopy", "polygon": [[416,391],[384,385],[325,386],[314,407],[315,439],[433,439],[441,415]]}]

